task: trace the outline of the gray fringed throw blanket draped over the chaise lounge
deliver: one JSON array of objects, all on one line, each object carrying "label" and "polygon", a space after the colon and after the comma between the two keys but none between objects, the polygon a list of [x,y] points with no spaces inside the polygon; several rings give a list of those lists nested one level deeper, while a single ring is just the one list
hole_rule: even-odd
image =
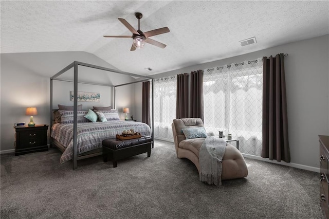
[{"label": "gray fringed throw blanket draped over the chaise lounge", "polygon": [[226,150],[226,141],[208,136],[199,151],[200,181],[209,185],[222,185],[222,159]]}]

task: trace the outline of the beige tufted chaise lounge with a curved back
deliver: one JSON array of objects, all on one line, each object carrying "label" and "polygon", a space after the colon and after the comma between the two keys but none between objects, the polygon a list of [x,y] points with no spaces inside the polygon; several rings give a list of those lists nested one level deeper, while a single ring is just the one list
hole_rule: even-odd
[{"label": "beige tufted chaise lounge with a curved back", "polygon": [[[181,129],[203,126],[204,123],[200,118],[174,119],[172,123],[177,157],[191,160],[199,173],[199,150],[206,138],[186,139]],[[222,161],[222,180],[243,178],[247,175],[248,169],[242,154],[233,145],[227,143]]]}]

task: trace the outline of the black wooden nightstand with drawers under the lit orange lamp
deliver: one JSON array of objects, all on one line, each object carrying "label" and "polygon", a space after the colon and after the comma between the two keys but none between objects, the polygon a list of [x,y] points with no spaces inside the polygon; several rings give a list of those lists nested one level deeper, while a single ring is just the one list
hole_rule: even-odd
[{"label": "black wooden nightstand with drawers under the lit orange lamp", "polygon": [[15,127],[15,156],[48,151],[48,125]]}]

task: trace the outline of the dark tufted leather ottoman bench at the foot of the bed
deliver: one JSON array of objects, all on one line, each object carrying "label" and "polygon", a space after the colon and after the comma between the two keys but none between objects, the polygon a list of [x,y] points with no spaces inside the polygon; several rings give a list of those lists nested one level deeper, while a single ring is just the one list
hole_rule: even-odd
[{"label": "dark tufted leather ottoman bench at the foot of the bed", "polygon": [[148,152],[148,157],[151,156],[150,136],[142,136],[140,138],[119,140],[116,138],[108,138],[102,141],[103,160],[107,162],[107,158],[113,160],[113,167],[117,167],[117,161],[123,158],[135,156]]}]

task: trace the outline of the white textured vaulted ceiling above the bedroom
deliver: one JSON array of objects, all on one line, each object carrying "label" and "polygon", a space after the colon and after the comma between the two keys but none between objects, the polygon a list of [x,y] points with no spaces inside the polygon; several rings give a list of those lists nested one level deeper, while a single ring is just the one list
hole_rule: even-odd
[{"label": "white textured vaulted ceiling above the bedroom", "polygon": [[[116,68],[158,74],[329,33],[327,1],[1,1],[1,53],[85,51]],[[117,19],[169,33],[130,51]],[[255,36],[257,44],[239,41]],[[79,61],[79,60],[77,60]],[[153,71],[146,71],[150,67]]]}]

